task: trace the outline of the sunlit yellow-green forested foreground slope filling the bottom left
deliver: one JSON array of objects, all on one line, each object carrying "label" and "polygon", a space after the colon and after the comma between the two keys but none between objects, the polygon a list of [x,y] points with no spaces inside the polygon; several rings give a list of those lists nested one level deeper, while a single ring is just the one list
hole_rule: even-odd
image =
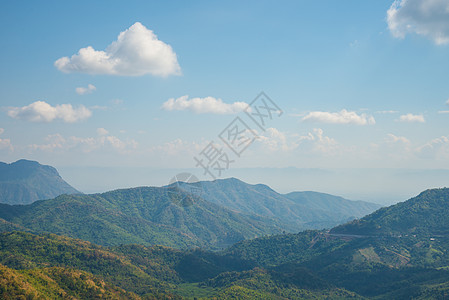
[{"label": "sunlit yellow-green forested foreground slope filling the bottom left", "polygon": [[8,274],[0,281],[3,298],[358,297],[306,269],[293,276],[291,269],[257,268],[226,254],[162,246],[105,248],[54,234],[0,234],[0,265]]}]

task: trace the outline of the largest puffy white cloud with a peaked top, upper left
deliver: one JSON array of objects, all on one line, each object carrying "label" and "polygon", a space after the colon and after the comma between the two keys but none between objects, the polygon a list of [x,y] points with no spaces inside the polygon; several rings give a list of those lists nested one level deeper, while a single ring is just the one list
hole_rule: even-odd
[{"label": "largest puffy white cloud with a peaked top, upper left", "polygon": [[162,77],[181,74],[176,53],[170,45],[160,41],[139,22],[121,32],[104,51],[91,46],[81,48],[70,58],[58,59],[55,66],[68,73]]}]

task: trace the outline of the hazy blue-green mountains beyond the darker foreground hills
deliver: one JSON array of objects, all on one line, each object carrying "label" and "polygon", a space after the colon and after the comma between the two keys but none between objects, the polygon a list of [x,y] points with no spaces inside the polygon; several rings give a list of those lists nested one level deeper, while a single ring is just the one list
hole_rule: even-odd
[{"label": "hazy blue-green mountains beyond the darker foreground hills", "polygon": [[[48,185],[54,185],[51,191],[56,193],[57,183],[65,184],[56,169],[37,162],[4,165],[8,172],[2,173],[2,179],[33,182],[28,184],[29,193],[37,195]],[[9,199],[21,205],[0,204],[0,228],[51,232],[105,246],[139,243],[218,250],[263,235],[330,228],[379,207],[316,192],[282,195],[236,178],[200,185],[198,195],[180,182],[91,195],[68,188],[56,198],[27,205],[22,205],[24,198]]]}]

